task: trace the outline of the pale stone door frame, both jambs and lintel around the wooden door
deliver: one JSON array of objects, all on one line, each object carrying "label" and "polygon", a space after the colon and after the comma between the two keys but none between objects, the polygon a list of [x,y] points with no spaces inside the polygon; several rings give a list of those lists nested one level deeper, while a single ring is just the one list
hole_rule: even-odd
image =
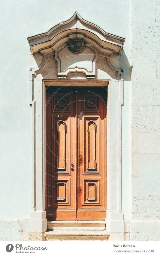
[{"label": "pale stone door frame, both jambs and lintel around the wooden door", "polygon": [[[108,83],[107,96],[107,219],[106,229],[110,233],[110,241],[125,239],[125,221],[122,213],[121,192],[121,106],[123,105],[124,81],[115,80],[41,80],[35,72],[30,71],[30,106],[32,107],[32,200],[29,220],[20,220],[20,231],[45,232],[46,219],[46,164],[45,164],[45,88],[50,84],[68,86],[76,82]],[[57,82],[55,82],[57,81]],[[77,83],[78,82],[78,83]],[[45,85],[46,84],[46,85]],[[116,99],[116,101],[115,101]],[[115,111],[114,111],[115,110]],[[113,118],[113,113],[116,117]],[[116,124],[115,124],[116,121]],[[116,157],[115,157],[116,156]]]}]

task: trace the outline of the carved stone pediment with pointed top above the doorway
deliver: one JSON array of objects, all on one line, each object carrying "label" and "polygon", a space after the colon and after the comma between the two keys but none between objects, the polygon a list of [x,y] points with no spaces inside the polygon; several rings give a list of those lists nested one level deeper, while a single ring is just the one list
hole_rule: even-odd
[{"label": "carved stone pediment with pointed top above the doorway", "polygon": [[74,72],[94,79],[98,55],[108,58],[120,54],[124,41],[85,21],[77,12],[48,32],[28,38],[32,53],[40,52],[44,56],[43,63],[47,56],[55,55],[59,79]]}]

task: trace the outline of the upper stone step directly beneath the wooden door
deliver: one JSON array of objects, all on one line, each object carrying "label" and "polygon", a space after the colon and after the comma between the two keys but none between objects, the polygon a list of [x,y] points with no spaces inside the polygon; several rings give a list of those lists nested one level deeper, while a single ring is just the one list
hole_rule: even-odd
[{"label": "upper stone step directly beneath the wooden door", "polygon": [[105,230],[105,221],[48,221],[49,230]]}]

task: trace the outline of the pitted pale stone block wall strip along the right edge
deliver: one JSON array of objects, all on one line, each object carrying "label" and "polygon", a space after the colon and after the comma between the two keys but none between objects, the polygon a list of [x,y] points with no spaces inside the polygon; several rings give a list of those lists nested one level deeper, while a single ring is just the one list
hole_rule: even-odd
[{"label": "pitted pale stone block wall strip along the right edge", "polygon": [[159,7],[132,2],[132,241],[160,240]]}]

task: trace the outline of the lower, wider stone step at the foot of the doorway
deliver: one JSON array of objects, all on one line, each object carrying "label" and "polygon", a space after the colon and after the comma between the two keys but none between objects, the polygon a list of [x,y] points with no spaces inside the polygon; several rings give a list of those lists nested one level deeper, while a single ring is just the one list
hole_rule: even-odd
[{"label": "lower, wider stone step at the foot of the doorway", "polygon": [[52,230],[44,233],[46,241],[108,241],[105,230]]}]

